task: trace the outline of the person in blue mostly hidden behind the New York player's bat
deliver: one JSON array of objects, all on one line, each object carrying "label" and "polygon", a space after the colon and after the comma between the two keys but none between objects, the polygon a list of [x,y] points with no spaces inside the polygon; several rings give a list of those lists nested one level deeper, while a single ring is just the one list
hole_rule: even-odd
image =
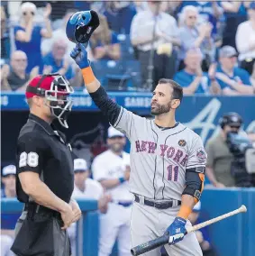
[{"label": "person in blue mostly hidden behind the New York player's bat", "polygon": [[[201,202],[198,201],[194,206],[192,213],[188,216],[188,220],[192,225],[201,223],[200,221]],[[216,256],[216,253],[211,245],[207,227],[203,227],[196,232],[196,238],[200,244],[204,256]]]}]

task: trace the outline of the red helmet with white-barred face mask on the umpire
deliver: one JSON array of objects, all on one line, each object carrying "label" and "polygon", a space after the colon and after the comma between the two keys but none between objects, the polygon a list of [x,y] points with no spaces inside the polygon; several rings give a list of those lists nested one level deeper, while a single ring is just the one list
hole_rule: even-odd
[{"label": "red helmet with white-barred face mask on the umpire", "polygon": [[59,74],[37,76],[32,79],[26,88],[26,98],[42,96],[45,105],[50,106],[51,114],[59,123],[68,128],[68,114],[71,112],[72,101],[68,98],[74,92],[68,80]]}]

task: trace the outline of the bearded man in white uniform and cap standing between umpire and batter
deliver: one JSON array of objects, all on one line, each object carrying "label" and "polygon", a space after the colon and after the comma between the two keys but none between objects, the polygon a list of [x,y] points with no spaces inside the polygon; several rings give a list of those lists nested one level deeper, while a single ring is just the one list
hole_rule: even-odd
[{"label": "bearded man in white uniform and cap standing between umpire and batter", "polygon": [[110,127],[107,144],[109,150],[98,155],[92,164],[93,176],[111,195],[108,211],[101,216],[99,256],[111,254],[118,241],[120,256],[131,255],[130,220],[132,194],[129,192],[130,155],[123,151],[126,143],[123,133]]}]

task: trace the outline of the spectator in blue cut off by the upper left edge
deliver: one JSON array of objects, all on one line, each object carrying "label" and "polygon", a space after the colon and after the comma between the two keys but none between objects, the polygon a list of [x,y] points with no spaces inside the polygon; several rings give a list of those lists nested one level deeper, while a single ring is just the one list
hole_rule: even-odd
[{"label": "spectator in blue cut off by the upper left edge", "polygon": [[6,25],[5,8],[1,6],[1,65],[10,57],[10,38]]}]

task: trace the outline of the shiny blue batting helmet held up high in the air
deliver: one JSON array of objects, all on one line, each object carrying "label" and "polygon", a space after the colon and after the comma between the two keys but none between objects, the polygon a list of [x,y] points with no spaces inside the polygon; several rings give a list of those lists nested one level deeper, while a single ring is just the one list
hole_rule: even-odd
[{"label": "shiny blue batting helmet held up high in the air", "polygon": [[73,14],[67,23],[66,33],[69,41],[87,43],[92,33],[99,26],[99,18],[95,11],[84,11]]}]

